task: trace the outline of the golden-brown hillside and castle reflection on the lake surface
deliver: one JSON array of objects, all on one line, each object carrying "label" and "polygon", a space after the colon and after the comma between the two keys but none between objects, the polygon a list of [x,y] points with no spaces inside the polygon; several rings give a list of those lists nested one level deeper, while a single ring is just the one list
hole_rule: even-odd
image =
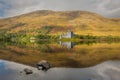
[{"label": "golden-brown hillside and castle reflection on the lake surface", "polygon": [[47,60],[55,67],[90,67],[107,60],[120,60],[120,43],[0,42],[0,59],[29,66],[36,66],[39,61]]}]

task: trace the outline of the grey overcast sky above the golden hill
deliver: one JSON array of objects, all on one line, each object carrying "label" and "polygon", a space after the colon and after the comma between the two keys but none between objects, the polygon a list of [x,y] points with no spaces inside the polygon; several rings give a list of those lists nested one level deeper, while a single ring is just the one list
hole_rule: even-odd
[{"label": "grey overcast sky above the golden hill", "polygon": [[120,18],[120,0],[0,0],[0,18],[36,10],[85,10]]}]

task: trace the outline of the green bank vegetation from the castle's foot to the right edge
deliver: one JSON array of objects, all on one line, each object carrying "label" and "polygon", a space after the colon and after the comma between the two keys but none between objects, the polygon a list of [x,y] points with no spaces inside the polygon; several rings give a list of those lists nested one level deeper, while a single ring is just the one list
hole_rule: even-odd
[{"label": "green bank vegetation from the castle's foot to the right edge", "polygon": [[120,36],[91,36],[91,35],[76,35],[74,38],[62,38],[61,41],[120,41]]}]

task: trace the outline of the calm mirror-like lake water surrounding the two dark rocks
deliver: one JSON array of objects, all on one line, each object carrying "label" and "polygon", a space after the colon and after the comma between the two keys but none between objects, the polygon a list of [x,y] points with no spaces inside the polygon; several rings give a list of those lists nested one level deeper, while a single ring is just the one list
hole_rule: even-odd
[{"label": "calm mirror-like lake water surrounding the two dark rocks", "polygon": [[[53,68],[38,71],[41,60]],[[26,76],[26,67],[34,74]],[[0,80],[120,80],[119,75],[119,42],[0,42]]]}]

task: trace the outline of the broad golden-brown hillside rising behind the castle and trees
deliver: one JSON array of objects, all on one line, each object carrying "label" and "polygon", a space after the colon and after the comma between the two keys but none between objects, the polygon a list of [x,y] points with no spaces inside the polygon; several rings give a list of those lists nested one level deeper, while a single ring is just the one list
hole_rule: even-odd
[{"label": "broad golden-brown hillside rising behind the castle and trees", "polygon": [[0,33],[120,35],[120,19],[109,19],[87,11],[40,10],[0,20]]}]

